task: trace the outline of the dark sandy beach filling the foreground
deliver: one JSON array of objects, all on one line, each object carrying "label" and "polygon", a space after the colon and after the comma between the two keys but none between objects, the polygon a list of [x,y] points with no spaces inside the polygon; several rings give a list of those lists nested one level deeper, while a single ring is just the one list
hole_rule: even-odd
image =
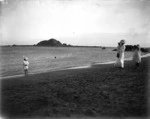
[{"label": "dark sandy beach filling the foreground", "polygon": [[9,118],[147,118],[150,57],[1,79],[1,114]]}]

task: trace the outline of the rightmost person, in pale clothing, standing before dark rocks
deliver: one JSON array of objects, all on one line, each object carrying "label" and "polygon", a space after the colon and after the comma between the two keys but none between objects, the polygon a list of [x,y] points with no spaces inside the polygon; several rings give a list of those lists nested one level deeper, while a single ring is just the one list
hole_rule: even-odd
[{"label": "rightmost person, in pale clothing, standing before dark rocks", "polygon": [[135,62],[136,69],[139,68],[141,63],[140,45],[136,45],[133,54],[133,61]]}]

